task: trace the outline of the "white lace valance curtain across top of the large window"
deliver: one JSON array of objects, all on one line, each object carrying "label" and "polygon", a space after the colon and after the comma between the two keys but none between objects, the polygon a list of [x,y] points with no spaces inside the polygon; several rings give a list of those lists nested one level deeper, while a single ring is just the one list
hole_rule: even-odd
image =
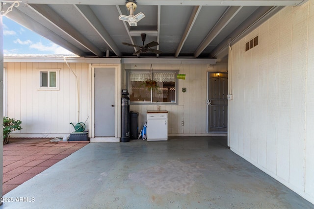
[{"label": "white lace valance curtain across top of the large window", "polygon": [[[131,72],[130,81],[146,81],[148,72]],[[157,82],[175,82],[176,73],[174,72],[154,72],[154,78]]]}]

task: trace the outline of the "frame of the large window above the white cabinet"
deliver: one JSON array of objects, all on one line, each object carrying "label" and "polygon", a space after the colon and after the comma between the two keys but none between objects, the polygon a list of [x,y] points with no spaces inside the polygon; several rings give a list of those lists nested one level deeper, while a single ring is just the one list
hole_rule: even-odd
[{"label": "frame of the large window above the white cabinet", "polygon": [[[131,72],[145,72],[145,73],[148,73],[150,70],[147,69],[147,70],[126,70],[126,88],[128,89],[128,92],[130,93],[129,89],[130,89],[130,73]],[[176,101],[175,102],[153,102],[153,101],[130,101],[130,104],[131,105],[157,105],[157,104],[160,104],[160,105],[178,105],[178,87],[179,87],[179,84],[178,84],[178,78],[177,78],[177,74],[179,73],[179,70],[154,70],[154,73],[157,73],[157,72],[169,72],[169,73],[175,73],[175,87],[176,87],[176,90],[175,90],[175,98],[176,98]],[[152,90],[151,90],[152,91]]]}]

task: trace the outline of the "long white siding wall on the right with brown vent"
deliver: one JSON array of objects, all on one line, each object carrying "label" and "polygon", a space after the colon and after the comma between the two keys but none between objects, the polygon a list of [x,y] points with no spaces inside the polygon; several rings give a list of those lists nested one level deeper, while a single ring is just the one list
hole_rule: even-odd
[{"label": "long white siding wall on the right with brown vent", "polygon": [[232,51],[231,149],[314,203],[314,1],[284,8]]}]

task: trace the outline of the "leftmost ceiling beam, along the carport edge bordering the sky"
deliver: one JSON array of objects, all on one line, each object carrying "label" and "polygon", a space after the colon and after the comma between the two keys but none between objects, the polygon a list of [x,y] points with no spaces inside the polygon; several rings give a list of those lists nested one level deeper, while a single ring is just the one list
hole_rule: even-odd
[{"label": "leftmost ceiling beam, along the carport edge bordering the sky", "polygon": [[[4,5],[4,7],[5,6],[9,7],[10,5],[6,4]],[[53,43],[62,46],[63,48],[71,51],[78,56],[85,55],[84,51],[79,49],[77,46],[74,46],[70,42],[66,41],[65,39],[54,33],[52,30],[48,29],[46,26],[27,16],[25,13],[23,13],[23,9],[25,9],[25,7],[14,8],[11,12],[6,14],[6,16],[11,20],[25,26],[26,28],[32,31],[36,31],[36,33],[38,33],[39,35],[49,39]]]}]

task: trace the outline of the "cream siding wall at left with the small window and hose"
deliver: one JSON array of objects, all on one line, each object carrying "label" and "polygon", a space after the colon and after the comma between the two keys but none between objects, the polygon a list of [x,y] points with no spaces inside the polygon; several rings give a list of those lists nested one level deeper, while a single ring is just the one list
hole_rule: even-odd
[{"label": "cream siding wall at left with the small window and hose", "polygon": [[[84,63],[69,65],[78,76],[79,122],[85,122],[90,111],[89,67]],[[38,90],[39,68],[60,69],[59,91]],[[30,136],[27,134],[47,137],[73,131],[73,126],[69,123],[78,122],[77,84],[74,74],[65,63],[6,63],[6,72],[7,113],[5,115],[22,120],[23,129],[16,132],[20,133],[17,137]]]}]

